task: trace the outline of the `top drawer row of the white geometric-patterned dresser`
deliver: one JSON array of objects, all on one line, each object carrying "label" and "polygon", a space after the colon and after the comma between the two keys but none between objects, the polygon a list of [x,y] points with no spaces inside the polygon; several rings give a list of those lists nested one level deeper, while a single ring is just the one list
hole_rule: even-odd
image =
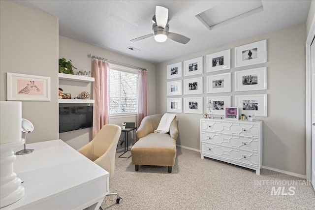
[{"label": "top drawer row of the white geometric-patterned dresser", "polygon": [[201,121],[201,131],[258,138],[258,124],[242,123],[239,121]]}]

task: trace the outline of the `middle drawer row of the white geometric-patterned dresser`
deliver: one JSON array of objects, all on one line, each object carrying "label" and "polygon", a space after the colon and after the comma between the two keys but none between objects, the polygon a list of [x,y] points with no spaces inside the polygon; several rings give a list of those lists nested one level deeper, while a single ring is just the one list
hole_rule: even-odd
[{"label": "middle drawer row of the white geometric-patterned dresser", "polygon": [[201,132],[201,143],[229,147],[237,150],[258,152],[257,139],[220,133]]}]

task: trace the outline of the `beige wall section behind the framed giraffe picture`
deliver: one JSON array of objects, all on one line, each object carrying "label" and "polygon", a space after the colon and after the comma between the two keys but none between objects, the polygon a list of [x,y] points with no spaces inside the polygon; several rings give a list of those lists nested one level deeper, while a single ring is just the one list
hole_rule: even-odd
[{"label": "beige wall section behind the framed giraffe picture", "polygon": [[6,72],[50,77],[51,101],[22,101],[22,118],[34,125],[28,143],[58,139],[58,18],[1,0],[0,46],[0,100]]}]

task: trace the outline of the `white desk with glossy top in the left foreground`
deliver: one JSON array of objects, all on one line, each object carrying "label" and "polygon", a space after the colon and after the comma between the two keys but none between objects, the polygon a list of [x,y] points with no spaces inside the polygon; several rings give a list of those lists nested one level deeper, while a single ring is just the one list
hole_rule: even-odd
[{"label": "white desk with glossy top in the left foreground", "polygon": [[[27,145],[16,155],[14,173],[25,188],[19,201],[1,210],[97,210],[109,193],[109,173],[62,140]],[[16,151],[23,149],[16,149]]]}]

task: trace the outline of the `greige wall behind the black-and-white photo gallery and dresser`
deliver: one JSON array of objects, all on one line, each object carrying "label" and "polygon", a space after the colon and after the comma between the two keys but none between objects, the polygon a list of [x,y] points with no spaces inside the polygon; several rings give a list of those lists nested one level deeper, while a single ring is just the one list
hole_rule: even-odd
[{"label": "greige wall behind the black-and-white photo gallery and dresser", "polygon": [[[267,39],[267,63],[234,68],[234,48],[263,39]],[[257,120],[263,120],[263,165],[305,175],[305,41],[306,24],[304,23],[159,63],[156,68],[157,113],[165,113],[167,111],[166,65],[203,56],[203,72],[206,72],[206,55],[232,49],[231,69],[203,74],[203,112],[206,112],[205,102],[207,96],[231,95],[231,105],[233,106],[235,105],[234,95],[267,93],[268,117],[256,118]],[[234,73],[232,73],[232,92],[206,94],[205,77],[207,75],[235,72],[262,66],[267,66],[267,90],[235,92]],[[184,79],[190,77],[173,80],[182,79],[184,82]],[[200,75],[195,77],[200,77]],[[183,94],[181,97],[191,96],[194,95],[186,96]],[[183,114],[178,114],[179,138],[177,144],[200,150],[200,118],[202,118],[202,115],[184,114],[184,111]]]}]

